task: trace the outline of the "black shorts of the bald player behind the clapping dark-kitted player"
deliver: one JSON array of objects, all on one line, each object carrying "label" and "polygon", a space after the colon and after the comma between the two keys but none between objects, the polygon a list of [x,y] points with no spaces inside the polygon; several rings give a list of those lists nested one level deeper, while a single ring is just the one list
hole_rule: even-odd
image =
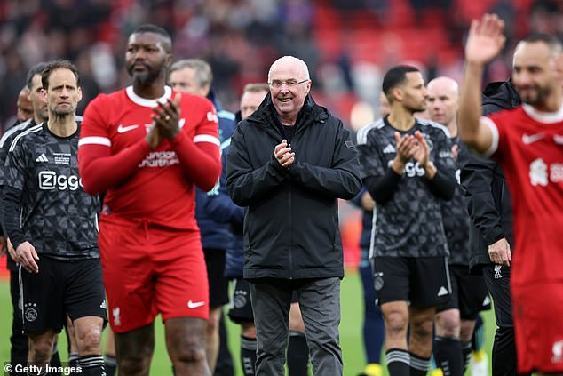
[{"label": "black shorts of the bald player behind the clapping dark-kitted player", "polygon": [[449,276],[452,284],[452,296],[448,303],[436,308],[436,312],[459,309],[461,318],[475,320],[480,311],[491,308],[487,285],[482,275],[472,275],[469,267],[450,265]]}]

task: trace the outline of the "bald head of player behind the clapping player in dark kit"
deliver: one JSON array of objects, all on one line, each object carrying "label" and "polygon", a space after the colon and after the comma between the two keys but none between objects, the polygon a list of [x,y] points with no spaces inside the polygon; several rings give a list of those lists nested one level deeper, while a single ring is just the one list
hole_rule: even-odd
[{"label": "bald head of player behind the clapping player in dark kit", "polygon": [[457,101],[459,87],[449,77],[434,78],[426,86],[428,90],[428,112],[432,121],[448,126],[452,134],[457,128]]}]

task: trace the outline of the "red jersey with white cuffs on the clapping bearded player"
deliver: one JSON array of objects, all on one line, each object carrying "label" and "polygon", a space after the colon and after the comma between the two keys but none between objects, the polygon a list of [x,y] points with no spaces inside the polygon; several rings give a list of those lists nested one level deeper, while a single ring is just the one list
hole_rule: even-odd
[{"label": "red jersey with white cuffs on the clapping bearded player", "polygon": [[210,100],[182,93],[181,131],[150,149],[146,136],[152,108],[175,95],[166,86],[162,98],[147,100],[129,86],[100,94],[86,108],[80,173],[86,191],[107,191],[102,217],[198,229],[194,184],[212,188],[218,179],[218,117]]}]

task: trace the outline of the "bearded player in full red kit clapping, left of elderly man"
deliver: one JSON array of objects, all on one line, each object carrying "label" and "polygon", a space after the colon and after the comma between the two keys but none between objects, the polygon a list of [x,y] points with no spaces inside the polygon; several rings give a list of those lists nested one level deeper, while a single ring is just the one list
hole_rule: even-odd
[{"label": "bearded player in full red kit clapping, left of elderly man", "polygon": [[165,85],[171,60],[165,30],[133,31],[125,54],[131,86],[93,100],[81,132],[84,189],[107,191],[99,246],[122,375],[148,374],[159,313],[174,373],[210,375],[194,186],[210,190],[218,179],[218,120],[209,100]]}]

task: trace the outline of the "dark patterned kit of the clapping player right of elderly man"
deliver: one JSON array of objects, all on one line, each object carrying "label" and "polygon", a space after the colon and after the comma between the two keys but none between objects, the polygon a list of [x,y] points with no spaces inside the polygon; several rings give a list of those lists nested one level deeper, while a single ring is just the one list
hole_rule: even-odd
[{"label": "dark patterned kit of the clapping player right of elderly man", "polygon": [[[443,304],[449,299],[450,286],[441,200],[451,198],[456,184],[449,133],[441,124],[419,119],[408,132],[402,132],[393,128],[387,119],[385,116],[358,132],[364,181],[377,203],[370,257],[375,258],[378,303],[408,297],[411,304],[417,306]],[[430,160],[438,171],[432,180],[426,179],[424,168],[414,159],[408,161],[402,175],[390,168],[397,154],[395,132],[400,132],[402,137],[416,131],[423,134],[430,148]],[[390,260],[382,262],[383,258]],[[393,259],[402,266],[385,268],[393,264]],[[424,261],[426,267],[432,264],[432,268],[424,275],[417,273],[416,269],[423,269],[420,268],[423,265],[417,266],[417,260]],[[424,295],[433,299],[421,300],[413,296],[415,285],[424,285],[429,292]]]}]

